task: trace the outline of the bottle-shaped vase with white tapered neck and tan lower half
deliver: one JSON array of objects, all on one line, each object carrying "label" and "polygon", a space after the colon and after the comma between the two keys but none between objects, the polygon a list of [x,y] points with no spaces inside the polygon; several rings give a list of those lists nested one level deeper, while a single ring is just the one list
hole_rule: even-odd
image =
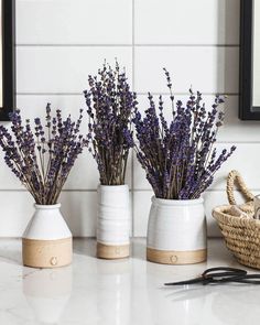
[{"label": "bottle-shaped vase with white tapered neck and tan lower half", "polygon": [[73,239],[61,212],[61,204],[37,205],[22,238],[23,264],[57,268],[71,264]]}]

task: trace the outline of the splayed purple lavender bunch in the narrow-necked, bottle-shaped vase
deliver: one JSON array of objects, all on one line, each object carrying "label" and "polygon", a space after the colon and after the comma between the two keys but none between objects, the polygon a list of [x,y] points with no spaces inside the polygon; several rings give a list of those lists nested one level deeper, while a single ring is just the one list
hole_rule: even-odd
[{"label": "splayed purple lavender bunch in the narrow-necked, bottle-shaped vase", "polygon": [[[15,176],[32,194],[36,204],[56,204],[64,183],[87,139],[79,134],[83,110],[79,118],[62,118],[61,110],[51,117],[51,106],[46,106],[43,123],[35,118],[23,123],[20,110],[11,113],[11,130],[0,126],[0,145],[4,161]],[[12,133],[12,134],[11,134]]]}]

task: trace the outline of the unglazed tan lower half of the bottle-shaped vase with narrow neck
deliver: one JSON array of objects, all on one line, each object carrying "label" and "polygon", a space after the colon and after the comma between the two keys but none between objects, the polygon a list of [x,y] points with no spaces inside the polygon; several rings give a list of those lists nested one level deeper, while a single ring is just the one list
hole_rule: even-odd
[{"label": "unglazed tan lower half of the bottle-shaped vase with narrow neck", "polygon": [[22,239],[23,264],[31,268],[59,268],[72,263],[73,239]]}]

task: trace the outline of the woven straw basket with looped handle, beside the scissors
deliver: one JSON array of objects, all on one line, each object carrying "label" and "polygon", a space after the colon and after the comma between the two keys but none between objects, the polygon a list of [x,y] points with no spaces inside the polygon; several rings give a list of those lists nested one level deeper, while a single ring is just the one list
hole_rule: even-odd
[{"label": "woven straw basket with looped handle, beside the scissors", "polygon": [[[246,198],[246,204],[237,206],[235,184]],[[253,195],[237,171],[231,171],[228,175],[227,196],[230,205],[218,206],[213,210],[227,248],[239,263],[260,269],[260,220],[253,219]],[[242,216],[236,216],[236,206],[243,212]]]}]

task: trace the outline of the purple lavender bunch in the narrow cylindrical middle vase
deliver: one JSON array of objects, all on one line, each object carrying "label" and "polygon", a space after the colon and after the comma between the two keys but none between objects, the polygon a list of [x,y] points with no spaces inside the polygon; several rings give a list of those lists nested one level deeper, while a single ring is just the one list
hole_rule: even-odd
[{"label": "purple lavender bunch in the narrow cylindrical middle vase", "polygon": [[85,90],[89,116],[89,151],[97,162],[101,185],[123,185],[130,145],[124,134],[131,131],[131,113],[137,105],[126,72],[118,63],[104,64],[98,76],[88,77]]}]

